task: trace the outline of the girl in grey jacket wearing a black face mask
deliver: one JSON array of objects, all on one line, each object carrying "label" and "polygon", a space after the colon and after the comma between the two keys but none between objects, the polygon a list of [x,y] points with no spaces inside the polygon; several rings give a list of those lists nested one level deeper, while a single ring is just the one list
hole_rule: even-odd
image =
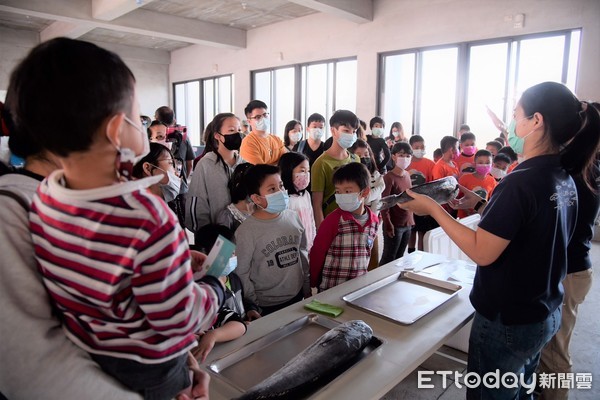
[{"label": "girl in grey jacket wearing a black face mask", "polygon": [[217,215],[231,203],[229,179],[238,164],[242,143],[240,120],[231,113],[217,114],[210,123],[205,156],[200,159],[186,199],[186,226],[198,232],[204,225],[214,224]]}]

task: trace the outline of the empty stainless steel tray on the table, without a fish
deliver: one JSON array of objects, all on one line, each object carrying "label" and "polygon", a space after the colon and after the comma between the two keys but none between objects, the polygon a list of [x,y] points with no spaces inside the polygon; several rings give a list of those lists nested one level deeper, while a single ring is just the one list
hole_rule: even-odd
[{"label": "empty stainless steel tray on the table, without a fish", "polygon": [[348,293],[342,299],[361,310],[409,325],[435,310],[462,286],[415,274],[399,272]]}]

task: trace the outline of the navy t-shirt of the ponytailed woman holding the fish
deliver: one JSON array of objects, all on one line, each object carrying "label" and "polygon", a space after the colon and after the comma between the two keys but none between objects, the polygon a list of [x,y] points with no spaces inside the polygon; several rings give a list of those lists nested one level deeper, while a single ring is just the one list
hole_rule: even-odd
[{"label": "navy t-shirt of the ponytailed woman holding the fish", "polygon": [[478,266],[473,307],[507,325],[543,321],[562,303],[567,245],[577,190],[556,155],[526,160],[494,189],[479,228],[510,240],[500,257]]}]

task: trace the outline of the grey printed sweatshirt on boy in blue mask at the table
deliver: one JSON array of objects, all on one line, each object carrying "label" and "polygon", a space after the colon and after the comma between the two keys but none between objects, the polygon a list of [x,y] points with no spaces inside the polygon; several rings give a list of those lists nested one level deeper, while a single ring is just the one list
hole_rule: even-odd
[{"label": "grey printed sweatshirt on boy in blue mask at the table", "polygon": [[247,300],[259,306],[275,306],[302,289],[308,290],[306,235],[296,212],[284,210],[271,220],[249,216],[235,238],[235,272]]}]

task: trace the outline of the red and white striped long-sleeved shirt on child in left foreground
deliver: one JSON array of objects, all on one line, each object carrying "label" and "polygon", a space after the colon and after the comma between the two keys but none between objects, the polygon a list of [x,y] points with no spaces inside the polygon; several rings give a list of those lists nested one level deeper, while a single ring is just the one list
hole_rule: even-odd
[{"label": "red and white striped long-sleeved shirt on child in left foreground", "polygon": [[44,284],[84,350],[157,364],[196,345],[219,308],[192,280],[177,217],[146,188],[159,177],[90,190],[56,171],[34,196],[30,227]]}]

